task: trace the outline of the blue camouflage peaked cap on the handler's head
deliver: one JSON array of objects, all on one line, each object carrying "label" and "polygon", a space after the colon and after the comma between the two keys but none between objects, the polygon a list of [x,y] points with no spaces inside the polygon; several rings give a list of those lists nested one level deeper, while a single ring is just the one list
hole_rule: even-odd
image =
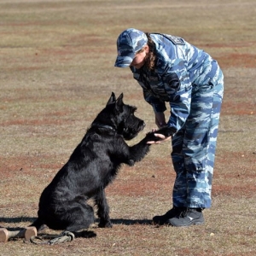
[{"label": "blue camouflage peaked cap on the handler's head", "polygon": [[121,32],[117,39],[118,56],[114,67],[129,67],[137,51],[148,43],[146,34],[135,28]]}]

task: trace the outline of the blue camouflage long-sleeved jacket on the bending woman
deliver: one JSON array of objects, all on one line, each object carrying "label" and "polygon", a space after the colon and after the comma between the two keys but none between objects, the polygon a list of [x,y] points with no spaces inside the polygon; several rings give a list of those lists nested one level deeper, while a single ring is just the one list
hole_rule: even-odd
[{"label": "blue camouflage long-sleeved jacket on the bending woman", "polygon": [[171,117],[167,125],[178,131],[189,116],[192,87],[213,78],[218,64],[183,38],[159,33],[151,33],[150,37],[156,46],[154,72],[146,67],[130,67],[131,72],[154,112],[164,112],[165,102],[170,103]]}]

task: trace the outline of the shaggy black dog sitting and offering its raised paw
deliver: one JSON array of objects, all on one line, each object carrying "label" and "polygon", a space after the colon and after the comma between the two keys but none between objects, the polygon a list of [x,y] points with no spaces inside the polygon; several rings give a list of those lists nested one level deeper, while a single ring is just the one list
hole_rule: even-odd
[{"label": "shaggy black dog sitting and offering its raised paw", "polygon": [[[93,208],[86,203],[90,198],[97,207],[99,226],[112,226],[104,189],[121,164],[133,166],[148,153],[147,142],[159,140],[149,132],[134,146],[125,143],[145,126],[134,115],[135,111],[135,107],[124,104],[123,94],[116,99],[112,93],[106,108],[97,115],[70,159],[44,189],[33,226],[39,230],[46,224],[53,230],[71,232],[88,229],[95,221]],[[172,130],[163,129],[161,133],[170,136]]]}]

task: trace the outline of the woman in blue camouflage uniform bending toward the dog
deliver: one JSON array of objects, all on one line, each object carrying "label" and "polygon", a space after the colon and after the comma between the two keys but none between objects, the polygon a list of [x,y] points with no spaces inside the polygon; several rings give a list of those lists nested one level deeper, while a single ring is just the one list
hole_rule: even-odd
[{"label": "woman in blue camouflage uniform bending toward the dog", "polygon": [[[202,49],[183,38],[129,28],[117,39],[115,67],[130,67],[153,107],[158,127],[175,128],[172,164],[177,174],[173,207],[153,218],[156,224],[203,224],[202,210],[212,205],[212,174],[224,76]],[[169,102],[171,116],[164,112]],[[171,137],[155,136],[161,142]],[[154,143],[154,142],[151,142]]]}]

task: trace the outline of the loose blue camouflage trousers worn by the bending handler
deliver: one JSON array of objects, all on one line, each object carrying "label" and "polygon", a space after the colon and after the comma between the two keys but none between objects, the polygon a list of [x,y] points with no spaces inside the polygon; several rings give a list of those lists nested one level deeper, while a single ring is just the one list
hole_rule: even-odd
[{"label": "loose blue camouflage trousers worn by the bending handler", "polygon": [[172,137],[172,164],[177,175],[172,200],[175,207],[208,208],[212,205],[212,175],[224,76],[218,67],[213,78],[206,73],[195,83],[189,118]]}]

